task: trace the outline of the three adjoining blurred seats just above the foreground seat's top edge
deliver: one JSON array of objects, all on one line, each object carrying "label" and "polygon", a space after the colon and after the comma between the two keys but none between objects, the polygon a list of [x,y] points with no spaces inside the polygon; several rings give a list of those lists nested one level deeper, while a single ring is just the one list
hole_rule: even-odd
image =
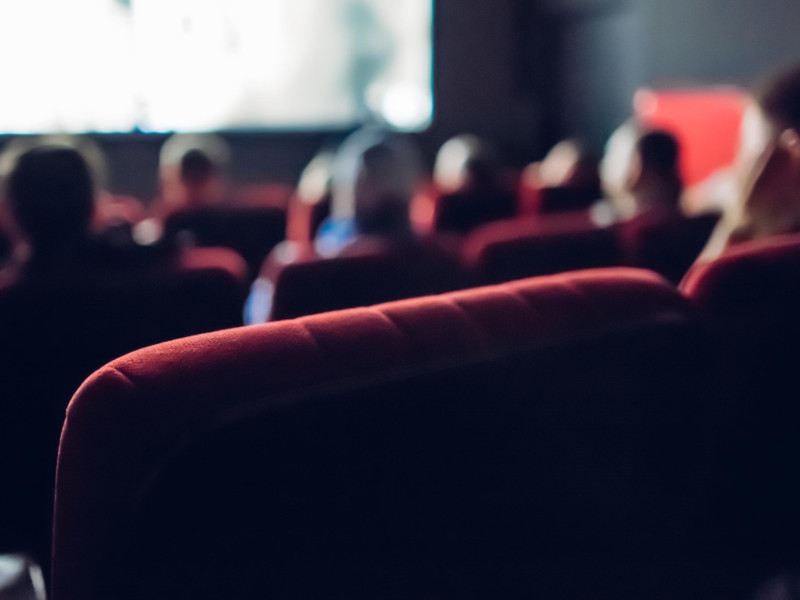
[{"label": "three adjoining blurred seats just above the foreground seat's top edge", "polygon": [[[464,239],[361,243],[335,258],[286,242],[265,261],[269,320],[594,267],[647,268],[677,283],[716,215],[595,226],[588,214],[490,223]],[[266,317],[266,315],[264,315]]]}]

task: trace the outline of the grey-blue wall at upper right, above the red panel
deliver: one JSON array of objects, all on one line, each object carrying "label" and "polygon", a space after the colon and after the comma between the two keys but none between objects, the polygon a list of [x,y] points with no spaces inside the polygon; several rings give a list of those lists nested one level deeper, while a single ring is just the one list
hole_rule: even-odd
[{"label": "grey-blue wall at upper right, above the red panel", "polygon": [[[797,0],[542,0],[561,50],[557,120],[598,149],[637,87],[736,84],[800,62]],[[552,68],[552,67],[551,67]]]}]

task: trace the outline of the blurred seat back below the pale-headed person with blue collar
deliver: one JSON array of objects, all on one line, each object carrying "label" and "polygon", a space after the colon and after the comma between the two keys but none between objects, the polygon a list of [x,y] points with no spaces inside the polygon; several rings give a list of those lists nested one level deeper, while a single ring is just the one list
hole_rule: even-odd
[{"label": "blurred seat back below the pale-headed person with blue collar", "polygon": [[331,258],[285,244],[267,258],[262,277],[274,290],[272,321],[442,293],[461,283],[457,259],[435,240],[365,239]]}]

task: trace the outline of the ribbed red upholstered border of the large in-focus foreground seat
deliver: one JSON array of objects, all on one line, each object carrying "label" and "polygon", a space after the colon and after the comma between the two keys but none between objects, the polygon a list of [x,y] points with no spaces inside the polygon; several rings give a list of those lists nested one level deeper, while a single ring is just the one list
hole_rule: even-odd
[{"label": "ribbed red upholstered border of the large in-focus foreground seat", "polygon": [[178,436],[225,409],[257,400],[276,406],[289,392],[514,348],[546,349],[610,327],[633,331],[685,311],[685,300],[655,275],[609,269],[232,329],[124,356],[92,375],[67,410],[53,597],[93,597],[106,536],[141,478]]}]

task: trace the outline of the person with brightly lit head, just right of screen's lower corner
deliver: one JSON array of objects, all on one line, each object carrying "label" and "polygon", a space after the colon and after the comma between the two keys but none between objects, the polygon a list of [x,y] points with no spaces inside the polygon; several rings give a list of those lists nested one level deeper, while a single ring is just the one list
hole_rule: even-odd
[{"label": "person with brightly lit head, just right of screen's lower corner", "polygon": [[434,182],[439,192],[433,214],[436,231],[464,234],[517,213],[516,194],[505,189],[494,150],[475,136],[445,142],[436,157]]}]

